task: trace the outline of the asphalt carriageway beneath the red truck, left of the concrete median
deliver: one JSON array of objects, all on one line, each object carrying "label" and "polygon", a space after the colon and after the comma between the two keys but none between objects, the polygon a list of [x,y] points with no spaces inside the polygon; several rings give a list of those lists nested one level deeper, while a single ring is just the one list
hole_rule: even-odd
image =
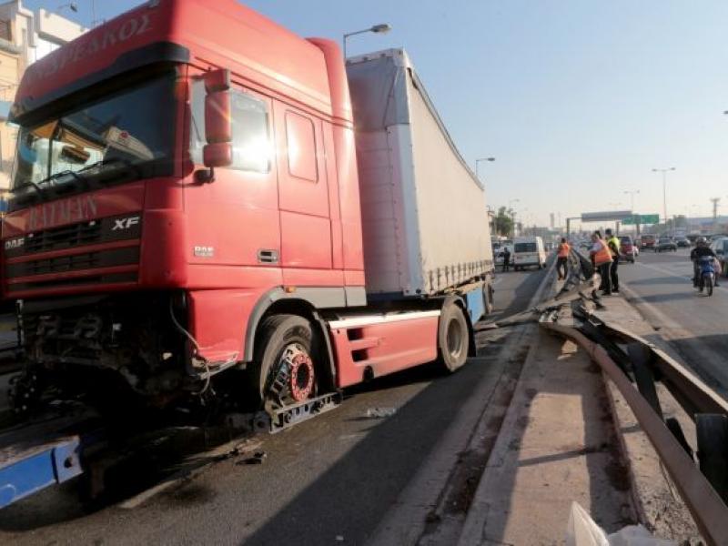
[{"label": "asphalt carriageway beneath the red truck, left of the concrete median", "polygon": [[[498,316],[526,308],[543,276],[499,275]],[[89,513],[72,487],[47,490],[0,511],[0,543],[364,543],[443,438],[477,423],[477,412],[462,420],[466,400],[497,398],[504,360],[512,362],[499,355],[508,336],[479,334],[481,358],[456,374],[426,366],[349,389],[338,410],[262,437],[263,464],[223,460],[136,508]],[[371,419],[372,409],[393,414]],[[452,449],[457,458],[463,448]],[[433,502],[438,487],[426,491]]]}]

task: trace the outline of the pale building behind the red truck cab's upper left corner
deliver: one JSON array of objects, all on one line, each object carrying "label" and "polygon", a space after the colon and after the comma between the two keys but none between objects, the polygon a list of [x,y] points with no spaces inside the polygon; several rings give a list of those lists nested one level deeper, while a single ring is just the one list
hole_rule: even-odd
[{"label": "pale building behind the red truck cab's upper left corner", "polygon": [[0,208],[10,188],[15,127],[7,116],[25,68],[86,32],[86,27],[45,9],[33,12],[21,0],[0,4]]}]

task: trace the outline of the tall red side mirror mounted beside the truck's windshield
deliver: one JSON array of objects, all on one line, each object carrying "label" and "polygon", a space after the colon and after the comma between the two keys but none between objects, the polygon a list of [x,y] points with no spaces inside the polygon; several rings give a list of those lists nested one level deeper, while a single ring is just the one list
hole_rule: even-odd
[{"label": "tall red side mirror mounted beside the truck's windshield", "polygon": [[203,76],[205,82],[205,140],[202,149],[205,167],[210,167],[207,181],[215,179],[214,167],[228,167],[233,162],[233,124],[230,101],[230,71],[213,70]]}]

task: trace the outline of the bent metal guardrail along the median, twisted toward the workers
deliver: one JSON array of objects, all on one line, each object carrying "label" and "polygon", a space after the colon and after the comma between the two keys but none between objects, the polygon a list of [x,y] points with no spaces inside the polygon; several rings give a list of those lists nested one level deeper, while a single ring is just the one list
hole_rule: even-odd
[{"label": "bent metal guardrail along the median, twisted toward the workers", "polygon": [[[602,302],[592,275],[589,260],[572,253],[564,288],[539,309],[541,327],[572,339],[602,367],[652,442],[703,538],[728,544],[728,403],[661,349],[594,316],[588,303],[599,308]],[[655,381],[695,423],[697,453],[678,421],[664,418]]]}]

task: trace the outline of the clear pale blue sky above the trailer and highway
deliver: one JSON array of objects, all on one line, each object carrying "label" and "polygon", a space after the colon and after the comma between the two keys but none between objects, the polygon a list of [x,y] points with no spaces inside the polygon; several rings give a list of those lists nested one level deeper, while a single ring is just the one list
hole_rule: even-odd
[{"label": "clear pale blue sky above the trailer and highway", "polygon": [[[214,1],[214,0],[209,0]],[[25,0],[55,9],[60,1]],[[91,0],[78,0],[86,25]],[[136,0],[96,0],[110,18]],[[549,213],[728,211],[728,2],[724,0],[250,0],[300,35],[349,40],[349,55],[404,46],[460,152],[481,163],[492,207]]]}]

